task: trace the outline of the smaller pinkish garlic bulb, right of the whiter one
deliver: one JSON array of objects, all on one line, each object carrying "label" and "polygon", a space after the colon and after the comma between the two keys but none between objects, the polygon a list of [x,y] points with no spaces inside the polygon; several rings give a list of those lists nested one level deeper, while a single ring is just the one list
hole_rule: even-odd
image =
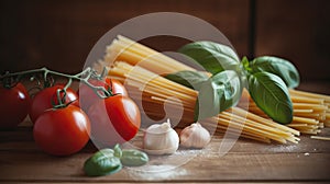
[{"label": "smaller pinkish garlic bulb, right of the whiter one", "polygon": [[191,124],[180,133],[180,145],[187,148],[204,148],[211,140],[210,133],[199,123]]}]

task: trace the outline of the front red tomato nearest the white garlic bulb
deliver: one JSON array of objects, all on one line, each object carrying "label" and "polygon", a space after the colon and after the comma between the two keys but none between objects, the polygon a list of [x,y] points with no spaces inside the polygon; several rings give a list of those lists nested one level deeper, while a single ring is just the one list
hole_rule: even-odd
[{"label": "front red tomato nearest the white garlic bulb", "polygon": [[140,129],[141,114],[127,96],[114,95],[95,103],[88,111],[91,139],[100,146],[112,147],[131,140]]}]

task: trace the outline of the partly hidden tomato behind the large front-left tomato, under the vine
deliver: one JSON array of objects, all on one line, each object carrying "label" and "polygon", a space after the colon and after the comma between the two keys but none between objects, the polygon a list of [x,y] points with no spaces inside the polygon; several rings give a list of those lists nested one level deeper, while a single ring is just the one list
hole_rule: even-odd
[{"label": "partly hidden tomato behind the large front-left tomato, under the vine", "polygon": [[[63,89],[63,88],[64,88],[63,84],[57,84],[51,88],[46,88],[41,92],[36,93],[36,95],[32,99],[30,111],[29,111],[29,115],[32,123],[34,123],[36,118],[44,111],[53,107],[52,101],[54,101],[55,104],[58,104],[56,91],[57,89]],[[68,88],[66,90],[65,103],[69,103],[73,101],[75,101],[73,103],[74,105],[79,106],[77,93],[73,89]]]}]

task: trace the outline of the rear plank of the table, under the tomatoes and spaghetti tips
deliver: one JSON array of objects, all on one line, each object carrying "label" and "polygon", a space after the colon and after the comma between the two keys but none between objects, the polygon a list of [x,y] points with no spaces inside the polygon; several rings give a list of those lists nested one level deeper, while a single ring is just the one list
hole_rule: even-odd
[{"label": "rear plank of the table, under the tomatoes and spaghetti tips", "polygon": [[[16,152],[31,152],[31,150],[37,149],[33,142],[32,129],[30,127],[21,127],[13,131],[0,131],[0,151],[13,150]],[[330,135],[330,128],[322,129],[322,135]],[[263,143],[254,140],[249,140],[241,138],[234,142],[233,147],[230,149],[231,153],[328,153],[330,152],[329,141],[311,139],[308,135],[302,135],[299,137],[301,140],[298,145],[296,143]],[[230,140],[230,139],[229,139]],[[221,135],[215,135],[210,146],[209,151],[217,152],[220,145],[226,141]],[[140,133],[132,141],[132,145],[138,147],[141,146],[142,133]],[[94,143],[89,142],[84,152],[91,152],[95,150]]]}]

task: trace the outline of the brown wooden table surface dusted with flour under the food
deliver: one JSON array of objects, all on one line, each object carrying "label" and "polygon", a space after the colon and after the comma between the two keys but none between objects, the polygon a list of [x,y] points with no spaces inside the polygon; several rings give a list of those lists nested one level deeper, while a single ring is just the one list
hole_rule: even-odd
[{"label": "brown wooden table surface dusted with flour under the food", "polygon": [[[322,134],[330,135],[330,128]],[[0,131],[0,183],[330,182],[330,142],[300,138],[298,145],[239,139],[229,152],[221,153],[221,142],[230,139],[216,135],[202,150],[179,149],[173,156],[151,157],[145,171],[124,168],[113,175],[88,177],[82,164],[97,151],[92,142],[74,156],[53,157],[36,147],[31,127],[19,127]],[[140,140],[141,134],[134,141]]]}]

